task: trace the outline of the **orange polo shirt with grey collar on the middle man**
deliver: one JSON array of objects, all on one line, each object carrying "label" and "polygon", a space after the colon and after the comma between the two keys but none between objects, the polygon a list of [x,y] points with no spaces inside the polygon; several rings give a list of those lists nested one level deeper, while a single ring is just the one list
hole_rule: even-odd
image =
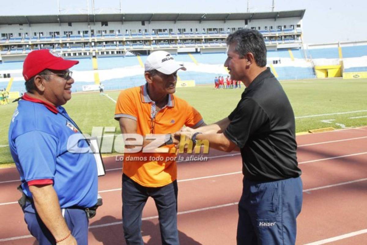
[{"label": "orange polo shirt with grey collar on the middle man", "polygon": [[[153,101],[149,98],[146,86],[147,84],[121,91],[116,103],[116,120],[121,117],[136,120],[137,133],[142,136],[150,134],[152,127],[155,134],[168,134],[177,132],[183,125],[196,127],[203,123],[203,118],[195,108],[173,94],[168,95],[167,105],[157,112],[152,123]],[[125,152],[124,174],[146,187],[161,187],[172,183],[177,179],[177,155],[171,153],[172,146],[159,149],[164,148],[169,148],[168,153]],[[172,149],[172,152],[175,150]]]}]

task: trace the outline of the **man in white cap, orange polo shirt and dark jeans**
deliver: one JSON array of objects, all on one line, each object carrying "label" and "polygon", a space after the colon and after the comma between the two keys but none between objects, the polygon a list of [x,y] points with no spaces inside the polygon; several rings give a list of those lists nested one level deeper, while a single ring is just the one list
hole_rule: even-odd
[{"label": "man in white cap, orange polo shirt and dark jeans", "polygon": [[[121,91],[117,100],[115,119],[119,120],[121,133],[139,136],[125,137],[122,214],[127,244],[143,244],[141,218],[148,197],[156,203],[162,244],[179,244],[176,150],[171,133],[184,125],[205,125],[195,108],[173,95],[180,69],[186,70],[171,54],[153,52],[145,62],[146,84]],[[147,152],[146,146],[157,138],[150,137],[152,134],[165,137],[158,145],[161,147]],[[133,144],[129,142],[132,139]]]}]

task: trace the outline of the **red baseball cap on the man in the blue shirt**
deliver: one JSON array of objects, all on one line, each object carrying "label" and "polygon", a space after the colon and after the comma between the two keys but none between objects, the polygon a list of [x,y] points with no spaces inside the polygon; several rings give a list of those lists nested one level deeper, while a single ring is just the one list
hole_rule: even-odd
[{"label": "red baseball cap on the man in the blue shirt", "polygon": [[65,60],[58,53],[41,49],[30,52],[23,63],[23,77],[26,81],[39,74],[44,69],[66,70],[78,64],[77,60]]}]

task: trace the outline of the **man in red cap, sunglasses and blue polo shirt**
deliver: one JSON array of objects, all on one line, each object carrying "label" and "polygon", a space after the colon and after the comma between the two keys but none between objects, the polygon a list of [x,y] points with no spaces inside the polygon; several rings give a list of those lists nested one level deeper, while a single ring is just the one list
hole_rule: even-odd
[{"label": "man in red cap, sunglasses and blue polo shirt", "polygon": [[[40,245],[87,245],[86,209],[97,203],[94,155],[70,151],[70,138],[83,136],[61,106],[71,98],[69,68],[78,63],[47,49],[29,53],[23,64],[27,93],[10,123],[10,151],[21,180],[19,204]],[[89,149],[86,140],[78,146]]]}]

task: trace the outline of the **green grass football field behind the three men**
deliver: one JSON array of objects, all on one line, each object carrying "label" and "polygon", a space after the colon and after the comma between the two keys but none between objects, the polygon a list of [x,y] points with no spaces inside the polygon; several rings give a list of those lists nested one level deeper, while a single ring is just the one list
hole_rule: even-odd
[{"label": "green grass football field behind the three men", "polygon": [[[294,109],[297,132],[367,125],[367,79],[297,80],[281,84]],[[176,94],[193,105],[206,123],[213,123],[232,112],[244,88],[214,90],[212,87],[178,88]],[[119,91],[106,94],[117,100]],[[3,146],[8,145],[9,123],[16,107],[17,103],[0,106],[0,164],[12,162],[9,148]],[[113,119],[115,102],[106,96],[73,94],[65,108],[84,133],[91,134],[93,126],[116,127],[116,134],[120,133]]]}]

